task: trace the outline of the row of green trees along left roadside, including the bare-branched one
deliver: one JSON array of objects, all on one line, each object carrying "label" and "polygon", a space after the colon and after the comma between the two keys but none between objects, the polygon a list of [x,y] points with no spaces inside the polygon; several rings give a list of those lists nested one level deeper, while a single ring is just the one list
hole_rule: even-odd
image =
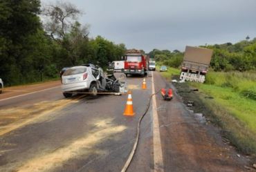
[{"label": "row of green trees along left roadside, including the bare-branched one", "polygon": [[6,85],[57,77],[63,67],[100,62],[125,53],[125,44],[89,38],[82,12],[67,2],[42,7],[39,0],[0,1],[0,77]]}]

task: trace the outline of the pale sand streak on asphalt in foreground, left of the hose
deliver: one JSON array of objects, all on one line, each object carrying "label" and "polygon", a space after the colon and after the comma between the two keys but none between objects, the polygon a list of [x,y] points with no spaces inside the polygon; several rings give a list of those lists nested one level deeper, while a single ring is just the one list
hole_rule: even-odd
[{"label": "pale sand streak on asphalt in foreground, left of the hose", "polygon": [[104,151],[93,149],[95,144],[103,142],[111,135],[116,135],[126,129],[125,126],[112,126],[109,121],[99,121],[96,124],[98,131],[91,132],[84,137],[81,137],[71,144],[56,149],[53,152],[37,155],[32,160],[28,160],[23,164],[17,172],[43,172],[53,171],[57,167],[61,167],[64,162],[71,158],[82,156],[83,158],[90,153],[97,153],[104,155]]}]

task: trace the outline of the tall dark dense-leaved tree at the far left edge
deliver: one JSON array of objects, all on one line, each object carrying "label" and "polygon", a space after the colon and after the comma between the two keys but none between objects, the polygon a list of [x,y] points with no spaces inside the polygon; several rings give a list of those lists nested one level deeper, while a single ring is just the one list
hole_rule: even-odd
[{"label": "tall dark dense-leaved tree at the far left edge", "polygon": [[6,84],[28,78],[24,61],[33,61],[28,58],[28,51],[36,44],[27,43],[42,27],[37,16],[39,8],[39,0],[0,1],[0,74]]}]

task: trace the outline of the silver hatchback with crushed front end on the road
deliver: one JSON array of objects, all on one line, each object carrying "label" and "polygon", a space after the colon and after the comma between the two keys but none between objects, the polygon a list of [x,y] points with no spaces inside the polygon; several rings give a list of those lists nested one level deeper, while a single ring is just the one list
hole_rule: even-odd
[{"label": "silver hatchback with crushed front end on the road", "polygon": [[68,68],[62,75],[62,93],[71,97],[73,93],[89,92],[119,92],[118,79],[113,80],[104,76],[102,68],[90,66],[74,66]]}]

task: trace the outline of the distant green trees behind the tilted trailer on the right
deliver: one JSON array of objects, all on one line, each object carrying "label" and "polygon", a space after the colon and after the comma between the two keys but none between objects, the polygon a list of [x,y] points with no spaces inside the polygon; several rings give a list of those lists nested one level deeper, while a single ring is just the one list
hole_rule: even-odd
[{"label": "distant green trees behind the tilted trailer on the right", "polygon": [[[213,50],[210,68],[214,71],[237,70],[244,72],[247,70],[256,70],[256,38],[239,41],[236,44],[215,44],[200,46]],[[158,50],[149,52],[149,56],[156,59],[159,64],[179,68],[183,61],[183,52],[179,50]]]}]

